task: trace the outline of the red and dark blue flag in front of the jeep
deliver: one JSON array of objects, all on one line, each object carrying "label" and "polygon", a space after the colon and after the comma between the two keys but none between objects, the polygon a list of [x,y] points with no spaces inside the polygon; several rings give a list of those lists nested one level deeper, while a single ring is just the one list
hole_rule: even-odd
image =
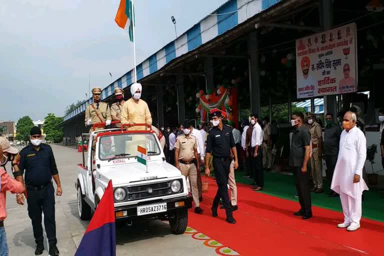
[{"label": "red and dark blue flag in front of the jeep", "polygon": [[112,181],[97,205],[74,256],[116,256]]}]

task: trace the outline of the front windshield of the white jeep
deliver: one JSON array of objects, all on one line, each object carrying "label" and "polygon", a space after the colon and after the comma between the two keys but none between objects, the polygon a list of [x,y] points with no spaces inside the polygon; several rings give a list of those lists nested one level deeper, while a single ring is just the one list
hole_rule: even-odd
[{"label": "front windshield of the white jeep", "polygon": [[149,156],[160,154],[160,148],[153,133],[113,134],[99,139],[98,158],[100,160],[136,157],[137,146],[146,148]]}]

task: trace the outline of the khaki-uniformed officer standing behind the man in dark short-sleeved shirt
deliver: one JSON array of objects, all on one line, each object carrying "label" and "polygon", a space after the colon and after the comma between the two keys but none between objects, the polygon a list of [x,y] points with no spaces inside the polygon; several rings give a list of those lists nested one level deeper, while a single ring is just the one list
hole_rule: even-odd
[{"label": "khaki-uniformed officer standing behind the man in dark short-sleeved shirt", "polygon": [[312,170],[313,188],[315,193],[324,192],[322,187],[322,129],[316,122],[316,115],[308,112],[308,129],[310,140],[312,142],[312,156],[310,157],[310,166]]}]

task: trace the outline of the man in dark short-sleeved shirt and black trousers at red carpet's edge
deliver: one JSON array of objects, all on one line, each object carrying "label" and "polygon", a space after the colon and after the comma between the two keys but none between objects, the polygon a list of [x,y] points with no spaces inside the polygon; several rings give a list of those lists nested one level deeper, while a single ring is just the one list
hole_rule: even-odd
[{"label": "man in dark short-sleeved shirt and black trousers at red carpet's edge", "polygon": [[301,112],[292,114],[291,125],[295,128],[292,134],[289,153],[289,165],[293,167],[293,176],[300,203],[300,209],[294,212],[302,219],[312,217],[310,201],[310,178],[307,163],[310,155],[310,134],[306,125],[303,125],[304,115]]}]

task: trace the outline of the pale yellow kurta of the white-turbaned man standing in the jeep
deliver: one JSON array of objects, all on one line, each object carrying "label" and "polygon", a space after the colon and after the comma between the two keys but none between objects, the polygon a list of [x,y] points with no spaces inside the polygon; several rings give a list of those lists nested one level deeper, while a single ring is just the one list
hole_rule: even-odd
[{"label": "pale yellow kurta of the white-turbaned man standing in the jeep", "polygon": [[[146,123],[152,124],[152,117],[150,116],[149,108],[146,102],[139,99],[137,102],[132,98],[125,101],[121,110],[121,123]],[[129,130],[143,130],[145,127],[134,126]]]}]

